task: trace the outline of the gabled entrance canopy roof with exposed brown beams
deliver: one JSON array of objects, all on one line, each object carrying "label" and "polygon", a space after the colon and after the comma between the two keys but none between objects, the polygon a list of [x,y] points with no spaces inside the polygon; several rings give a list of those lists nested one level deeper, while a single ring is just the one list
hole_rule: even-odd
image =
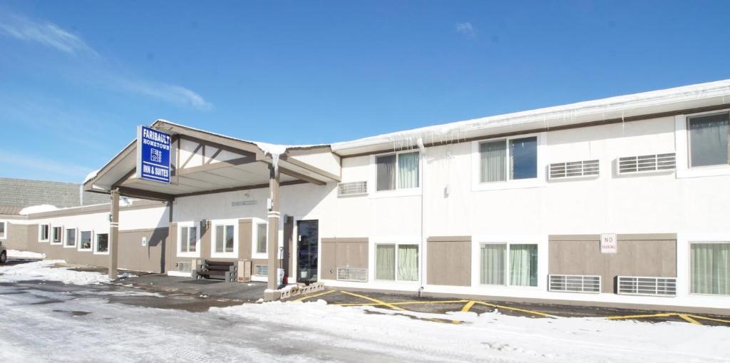
[{"label": "gabled entrance canopy roof with exposed brown beams", "polygon": [[169,121],[151,126],[171,136],[170,183],[137,177],[137,142],[89,177],[85,191],[172,201],[180,196],[268,188],[275,166],[280,185],[339,182],[339,157],[329,145],[285,146],[214,134]]}]

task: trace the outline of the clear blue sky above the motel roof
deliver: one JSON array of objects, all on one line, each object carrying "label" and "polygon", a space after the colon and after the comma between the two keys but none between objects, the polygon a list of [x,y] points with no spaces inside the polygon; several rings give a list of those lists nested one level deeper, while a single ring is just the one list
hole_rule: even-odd
[{"label": "clear blue sky above the motel roof", "polygon": [[0,1],[0,177],[157,118],[287,144],[730,78],[728,1]]}]

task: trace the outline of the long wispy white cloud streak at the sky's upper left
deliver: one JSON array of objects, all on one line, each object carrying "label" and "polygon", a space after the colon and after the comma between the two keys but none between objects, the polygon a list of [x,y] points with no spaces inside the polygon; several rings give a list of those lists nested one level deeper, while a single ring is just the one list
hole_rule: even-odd
[{"label": "long wispy white cloud streak at the sky's upper left", "polygon": [[[45,45],[74,56],[88,58],[88,60],[97,61],[97,65],[103,61],[103,57],[99,56],[99,53],[91,45],[88,45],[82,37],[72,34],[54,23],[40,23],[18,15],[9,15],[0,18],[0,34],[25,42]],[[212,110],[214,108],[213,104],[207,102],[198,93],[181,85],[135,79],[134,77],[122,77],[118,72],[112,72],[103,66],[99,72],[107,74],[106,78],[113,81],[112,85],[128,92],[150,96],[172,104],[193,107],[198,110]]]}]

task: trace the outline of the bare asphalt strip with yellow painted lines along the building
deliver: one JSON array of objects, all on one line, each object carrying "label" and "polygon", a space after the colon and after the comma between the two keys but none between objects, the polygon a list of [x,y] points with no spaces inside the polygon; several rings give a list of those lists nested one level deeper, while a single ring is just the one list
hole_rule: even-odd
[{"label": "bare asphalt strip with yellow painted lines along the building", "polygon": [[[708,314],[680,313],[651,310],[615,309],[608,307],[583,307],[555,304],[499,302],[480,299],[418,297],[408,294],[388,294],[373,291],[345,291],[327,289],[312,294],[292,297],[287,301],[315,301],[325,300],[331,305],[344,307],[372,306],[404,312],[437,313],[468,311],[482,314],[499,312],[509,316],[524,316],[527,318],[558,318],[558,317],[590,317],[607,318],[610,320],[636,320],[658,323],[661,321],[680,321],[688,324],[730,326],[730,316]],[[429,318],[426,320],[439,321],[449,324],[461,324],[458,320]]]}]

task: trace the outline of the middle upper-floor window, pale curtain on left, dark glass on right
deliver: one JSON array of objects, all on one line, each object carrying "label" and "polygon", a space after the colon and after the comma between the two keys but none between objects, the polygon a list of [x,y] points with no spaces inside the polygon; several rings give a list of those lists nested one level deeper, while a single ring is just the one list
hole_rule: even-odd
[{"label": "middle upper-floor window, pale curtain on left, dark glass on right", "polygon": [[537,137],[479,144],[480,183],[537,178]]}]

